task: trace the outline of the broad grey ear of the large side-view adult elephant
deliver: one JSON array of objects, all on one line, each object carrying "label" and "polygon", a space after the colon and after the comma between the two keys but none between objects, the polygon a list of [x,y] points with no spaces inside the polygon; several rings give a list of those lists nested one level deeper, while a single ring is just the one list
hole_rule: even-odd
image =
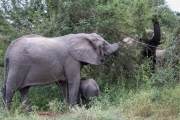
[{"label": "broad grey ear of the large side-view adult elephant", "polygon": [[69,53],[74,57],[74,59],[86,62],[93,65],[100,65],[100,57],[95,51],[95,46],[93,45],[93,36],[75,35],[68,41]]}]

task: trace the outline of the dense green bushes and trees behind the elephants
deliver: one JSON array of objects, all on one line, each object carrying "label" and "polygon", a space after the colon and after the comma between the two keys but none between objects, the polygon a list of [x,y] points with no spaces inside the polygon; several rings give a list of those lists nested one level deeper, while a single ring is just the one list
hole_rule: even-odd
[{"label": "dense green bushes and trees behind the elephants", "polygon": [[[100,66],[88,65],[82,70],[82,77],[94,78],[100,85],[106,107],[105,100],[112,105],[119,102],[115,96],[179,82],[180,47],[174,46],[179,44],[180,13],[173,12],[165,0],[1,0],[0,4],[1,85],[4,53],[11,41],[27,34],[57,37],[70,33],[97,33],[110,43],[120,42],[118,54],[107,56]],[[155,73],[149,69],[151,61],[141,59],[141,47],[126,49],[122,42],[127,36],[136,38],[146,29],[153,29],[153,14],[159,16],[162,39],[166,39],[158,49],[169,50],[169,63],[178,61],[174,68],[166,63],[165,69]],[[32,87],[31,105],[47,110],[49,101],[61,99],[60,92],[54,84]],[[16,109],[20,103],[18,93],[13,101]]]}]

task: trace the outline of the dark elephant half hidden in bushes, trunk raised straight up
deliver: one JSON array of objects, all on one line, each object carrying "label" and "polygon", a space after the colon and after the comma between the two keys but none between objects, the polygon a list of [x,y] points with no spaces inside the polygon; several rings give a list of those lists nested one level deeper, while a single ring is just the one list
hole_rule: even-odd
[{"label": "dark elephant half hidden in bushes, trunk raised straight up", "polygon": [[132,39],[130,37],[125,38],[123,41],[127,43],[128,47],[137,46],[138,43],[143,43],[142,57],[151,58],[153,62],[152,70],[155,70],[156,65],[156,49],[158,45],[165,42],[161,41],[161,28],[157,19],[157,15],[153,15],[152,23],[154,30],[146,30],[146,35],[138,37],[137,39]]}]

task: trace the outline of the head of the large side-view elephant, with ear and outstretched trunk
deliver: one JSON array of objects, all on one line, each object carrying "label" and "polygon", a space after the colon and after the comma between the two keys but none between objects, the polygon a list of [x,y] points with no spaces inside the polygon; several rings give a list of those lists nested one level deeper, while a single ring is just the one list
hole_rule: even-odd
[{"label": "head of the large side-view elephant, with ear and outstretched trunk", "polygon": [[101,36],[93,34],[78,34],[69,38],[69,53],[78,61],[100,65],[104,56],[117,51],[117,43],[110,44]]}]

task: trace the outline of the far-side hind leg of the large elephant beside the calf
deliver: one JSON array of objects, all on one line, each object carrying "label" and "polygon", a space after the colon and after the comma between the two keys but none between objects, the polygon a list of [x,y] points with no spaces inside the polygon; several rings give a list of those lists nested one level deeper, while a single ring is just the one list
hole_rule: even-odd
[{"label": "far-side hind leg of the large elephant beside the calf", "polygon": [[29,102],[29,98],[28,98],[29,88],[30,88],[30,86],[27,86],[27,87],[24,87],[24,88],[19,90],[20,96],[21,96],[21,100],[25,104],[23,109],[25,109],[27,112],[31,111],[31,109],[30,109],[30,102]]}]

